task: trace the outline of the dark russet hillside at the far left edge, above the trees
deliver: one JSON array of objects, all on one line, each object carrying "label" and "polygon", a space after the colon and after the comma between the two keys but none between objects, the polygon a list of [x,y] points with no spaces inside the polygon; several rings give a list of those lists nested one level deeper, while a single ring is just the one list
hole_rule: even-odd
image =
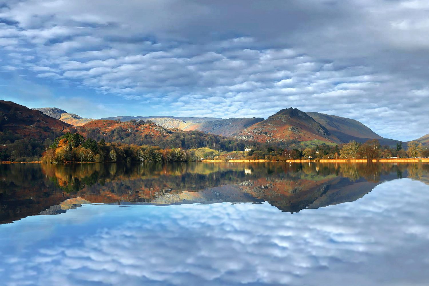
[{"label": "dark russet hillside at the far left edge, above the trees", "polygon": [[69,124],[11,101],[0,100],[0,132],[36,139],[63,132]]}]

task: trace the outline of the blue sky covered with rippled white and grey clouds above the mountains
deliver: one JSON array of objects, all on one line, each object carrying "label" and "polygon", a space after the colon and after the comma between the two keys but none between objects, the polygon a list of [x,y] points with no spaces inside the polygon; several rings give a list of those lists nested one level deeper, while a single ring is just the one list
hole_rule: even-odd
[{"label": "blue sky covered with rippled white and grey clouds above the mountains", "polygon": [[87,118],[349,117],[429,133],[427,0],[0,0],[0,98]]}]

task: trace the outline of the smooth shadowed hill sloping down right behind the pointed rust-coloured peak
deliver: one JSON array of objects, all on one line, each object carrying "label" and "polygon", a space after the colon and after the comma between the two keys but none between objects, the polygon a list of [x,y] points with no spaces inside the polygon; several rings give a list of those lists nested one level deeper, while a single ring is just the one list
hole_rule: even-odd
[{"label": "smooth shadowed hill sloping down right behind the pointed rust-coloured peak", "polygon": [[369,127],[354,119],[318,112],[307,112],[307,114],[315,121],[325,126],[332,135],[344,143],[352,140],[364,143],[370,139],[378,139],[381,145],[396,146],[396,143],[399,142],[397,140],[381,137]]}]

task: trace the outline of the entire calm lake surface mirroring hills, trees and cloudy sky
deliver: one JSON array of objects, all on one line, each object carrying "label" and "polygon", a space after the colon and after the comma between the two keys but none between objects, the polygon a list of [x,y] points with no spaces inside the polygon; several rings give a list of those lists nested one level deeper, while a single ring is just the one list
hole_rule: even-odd
[{"label": "entire calm lake surface mirroring hills, trees and cloudy sky", "polygon": [[0,164],[1,285],[429,285],[429,164]]}]

